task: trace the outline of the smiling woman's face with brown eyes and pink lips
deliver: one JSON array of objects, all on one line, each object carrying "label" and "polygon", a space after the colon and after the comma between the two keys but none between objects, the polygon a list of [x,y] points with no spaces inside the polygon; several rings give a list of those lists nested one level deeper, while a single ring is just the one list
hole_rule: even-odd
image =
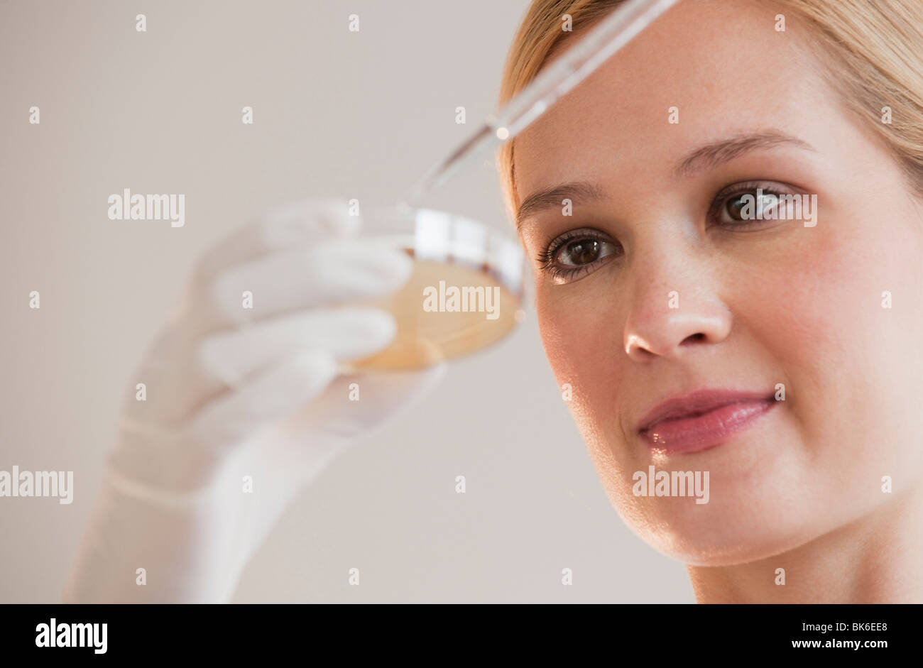
[{"label": "smiling woman's face with brown eyes and pink lips", "polygon": [[[797,547],[923,470],[923,207],[776,13],[684,0],[515,140],[557,382],[619,514],[689,564]],[[817,209],[756,219],[757,188]],[[725,394],[651,414],[701,389]],[[707,471],[708,502],[635,495],[651,466]]]}]

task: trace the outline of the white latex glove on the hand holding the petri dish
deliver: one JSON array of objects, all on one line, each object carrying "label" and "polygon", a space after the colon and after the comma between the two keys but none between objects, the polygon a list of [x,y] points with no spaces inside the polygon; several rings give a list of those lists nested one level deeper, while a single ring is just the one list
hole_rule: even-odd
[{"label": "white latex glove on the hand holding the petri dish", "polygon": [[385,348],[395,325],[385,311],[335,304],[393,292],[411,272],[408,256],[356,243],[359,227],[345,201],[299,202],[199,260],[130,380],[65,602],[230,600],[294,495],[438,382],[445,364],[337,376],[338,362]]}]

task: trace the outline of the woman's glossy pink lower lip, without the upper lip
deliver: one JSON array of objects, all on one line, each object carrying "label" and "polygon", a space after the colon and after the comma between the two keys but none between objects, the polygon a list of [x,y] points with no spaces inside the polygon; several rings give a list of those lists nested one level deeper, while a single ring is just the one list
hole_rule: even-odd
[{"label": "woman's glossy pink lower lip, without the upper lip", "polygon": [[641,437],[655,450],[699,452],[720,446],[729,435],[749,428],[775,404],[774,399],[727,404],[701,415],[654,424]]}]

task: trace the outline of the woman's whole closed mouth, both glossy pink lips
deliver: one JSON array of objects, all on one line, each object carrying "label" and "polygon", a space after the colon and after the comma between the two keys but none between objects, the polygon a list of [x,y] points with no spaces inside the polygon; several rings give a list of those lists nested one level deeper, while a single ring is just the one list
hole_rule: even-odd
[{"label": "woman's whole closed mouth, both glossy pink lips", "polygon": [[638,433],[653,449],[698,452],[721,445],[775,407],[772,394],[701,389],[647,413]]}]

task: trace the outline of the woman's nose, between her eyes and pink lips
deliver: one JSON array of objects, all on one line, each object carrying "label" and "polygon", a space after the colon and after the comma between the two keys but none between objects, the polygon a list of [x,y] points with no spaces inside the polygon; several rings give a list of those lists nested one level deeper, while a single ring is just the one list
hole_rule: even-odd
[{"label": "woman's nose, between her eyes and pink lips", "polygon": [[706,267],[677,256],[649,257],[638,267],[625,352],[635,362],[678,357],[725,340],[732,316],[714,290]]}]

